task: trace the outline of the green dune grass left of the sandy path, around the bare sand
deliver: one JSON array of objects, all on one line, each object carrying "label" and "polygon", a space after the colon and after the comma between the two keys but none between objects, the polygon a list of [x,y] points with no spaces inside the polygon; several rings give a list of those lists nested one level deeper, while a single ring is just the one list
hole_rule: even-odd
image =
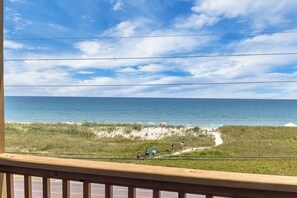
[{"label": "green dune grass left of the sandy path, around the bare sand", "polygon": [[[25,153],[43,153],[51,156],[59,154],[96,154],[96,155],[129,155],[134,157],[137,151],[144,152],[149,147],[156,147],[158,154],[168,154],[171,152],[171,144],[178,145],[181,141],[186,141],[190,147],[213,146],[214,139],[202,132],[195,132],[190,135],[186,131],[183,135],[165,136],[158,140],[145,140],[139,136],[131,138],[123,135],[113,137],[99,137],[96,133],[104,131],[112,134],[118,130],[123,133],[132,130],[141,130],[151,126],[139,125],[71,125],[71,124],[21,124],[6,123],[6,151],[7,152],[25,152]],[[168,128],[168,126],[167,126]],[[174,128],[171,126],[171,128]],[[129,135],[129,134],[128,134]]]}]

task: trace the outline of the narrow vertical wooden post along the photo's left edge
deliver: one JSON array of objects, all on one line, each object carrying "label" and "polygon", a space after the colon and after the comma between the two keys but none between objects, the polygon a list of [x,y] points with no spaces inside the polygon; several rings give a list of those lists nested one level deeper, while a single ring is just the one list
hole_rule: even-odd
[{"label": "narrow vertical wooden post along the photo's left edge", "polygon": [[[0,153],[5,152],[3,71],[3,0],[0,0]],[[3,173],[0,173],[0,196],[6,197],[5,175]]]}]

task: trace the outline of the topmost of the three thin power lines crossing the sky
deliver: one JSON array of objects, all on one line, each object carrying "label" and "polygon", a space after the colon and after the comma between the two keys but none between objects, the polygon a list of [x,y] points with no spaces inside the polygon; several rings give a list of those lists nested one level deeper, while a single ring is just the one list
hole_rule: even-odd
[{"label": "topmost of the three thin power lines crossing the sky", "polygon": [[12,38],[14,41],[34,40],[85,40],[85,39],[137,39],[137,38],[175,38],[175,37],[201,37],[222,35],[265,35],[265,34],[296,34],[297,31],[267,31],[267,32],[227,32],[227,33],[200,33],[200,34],[169,34],[169,35],[133,35],[133,36],[86,36],[86,37],[37,37],[37,38]]}]

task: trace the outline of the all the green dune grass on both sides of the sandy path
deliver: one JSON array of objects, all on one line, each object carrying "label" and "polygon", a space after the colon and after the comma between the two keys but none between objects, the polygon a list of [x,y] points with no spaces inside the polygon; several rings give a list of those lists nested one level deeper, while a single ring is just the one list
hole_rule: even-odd
[{"label": "all the green dune grass on both sides of the sandy path", "polygon": [[[6,150],[54,157],[297,176],[297,128],[224,126],[219,128],[224,143],[217,147],[214,147],[214,139],[202,133],[199,128],[188,130],[179,126],[179,129],[184,129],[183,135],[169,135],[157,140],[125,138],[121,135],[99,137],[94,133],[104,130],[112,134],[118,127],[124,127],[123,133],[130,135],[133,130],[152,126],[7,123]],[[164,128],[175,129],[174,126],[164,126]],[[186,148],[212,148],[149,160],[135,158],[136,152],[143,153],[146,147],[150,149],[156,147],[158,155],[169,154],[171,144],[174,143],[178,147],[181,141],[185,142]]]}]

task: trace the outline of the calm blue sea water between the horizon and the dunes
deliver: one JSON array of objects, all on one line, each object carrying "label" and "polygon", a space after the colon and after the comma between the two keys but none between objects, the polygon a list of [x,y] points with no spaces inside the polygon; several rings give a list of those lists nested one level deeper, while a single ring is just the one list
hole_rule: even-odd
[{"label": "calm blue sea water between the horizon and the dunes", "polygon": [[5,120],[282,126],[297,123],[297,100],[7,96]]}]

